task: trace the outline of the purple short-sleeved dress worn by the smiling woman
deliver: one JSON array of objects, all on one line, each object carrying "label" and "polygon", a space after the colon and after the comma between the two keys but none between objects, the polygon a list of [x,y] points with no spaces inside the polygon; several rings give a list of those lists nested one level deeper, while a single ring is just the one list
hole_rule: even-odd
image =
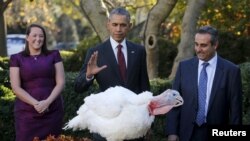
[{"label": "purple short-sleeved dress worn by the smiling woman", "polygon": [[[46,99],[56,85],[55,64],[62,61],[58,50],[38,56],[22,53],[10,57],[10,67],[19,67],[21,87],[38,101]],[[63,99],[59,95],[49,110],[39,114],[35,108],[16,98],[14,107],[16,141],[32,141],[58,136],[63,124]]]}]

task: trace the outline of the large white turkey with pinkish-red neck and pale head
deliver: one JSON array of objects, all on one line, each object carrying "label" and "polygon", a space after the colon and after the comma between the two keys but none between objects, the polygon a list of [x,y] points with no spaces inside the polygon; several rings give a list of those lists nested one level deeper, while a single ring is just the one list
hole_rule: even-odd
[{"label": "large white turkey with pinkish-red neck and pale head", "polygon": [[166,90],[158,96],[149,91],[141,94],[120,86],[91,94],[64,129],[88,129],[107,141],[123,141],[145,136],[155,115],[165,114],[183,104],[175,90]]}]

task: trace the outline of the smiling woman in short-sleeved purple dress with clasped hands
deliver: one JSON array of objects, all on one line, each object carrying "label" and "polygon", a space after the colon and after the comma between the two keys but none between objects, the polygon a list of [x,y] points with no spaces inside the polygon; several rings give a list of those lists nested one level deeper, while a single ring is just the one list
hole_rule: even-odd
[{"label": "smiling woman in short-sleeved purple dress with clasped hands", "polygon": [[42,26],[31,24],[25,50],[10,57],[10,81],[16,95],[16,141],[57,137],[63,126],[64,68],[59,51],[47,49]]}]

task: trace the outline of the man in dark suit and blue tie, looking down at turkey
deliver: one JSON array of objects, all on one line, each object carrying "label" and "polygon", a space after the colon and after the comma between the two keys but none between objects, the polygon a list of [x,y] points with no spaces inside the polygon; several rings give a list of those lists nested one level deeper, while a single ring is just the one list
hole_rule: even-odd
[{"label": "man in dark suit and blue tie, looking down at turkey", "polygon": [[[167,114],[168,141],[206,141],[208,125],[241,124],[240,69],[221,58],[217,48],[218,31],[211,26],[201,27],[195,35],[197,56],[180,62],[174,79],[173,89],[180,92],[184,104]],[[203,63],[207,64],[206,73],[201,73]],[[201,88],[204,80],[206,86]]]}]

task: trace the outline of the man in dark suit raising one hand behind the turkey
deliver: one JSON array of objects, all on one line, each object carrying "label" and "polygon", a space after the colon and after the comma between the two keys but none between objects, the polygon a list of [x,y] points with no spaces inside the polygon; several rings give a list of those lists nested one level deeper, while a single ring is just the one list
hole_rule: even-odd
[{"label": "man in dark suit raising one hand behind the turkey", "polygon": [[[107,27],[110,38],[88,50],[83,67],[75,80],[75,91],[86,91],[93,84],[94,79],[101,91],[117,85],[137,94],[150,90],[145,48],[126,40],[126,35],[131,28],[128,11],[123,8],[112,10]],[[118,45],[122,46],[122,53],[118,52]],[[122,59],[119,56],[122,56]],[[94,134],[93,140],[105,141],[98,134]],[[143,139],[136,141],[139,140]]]}]

